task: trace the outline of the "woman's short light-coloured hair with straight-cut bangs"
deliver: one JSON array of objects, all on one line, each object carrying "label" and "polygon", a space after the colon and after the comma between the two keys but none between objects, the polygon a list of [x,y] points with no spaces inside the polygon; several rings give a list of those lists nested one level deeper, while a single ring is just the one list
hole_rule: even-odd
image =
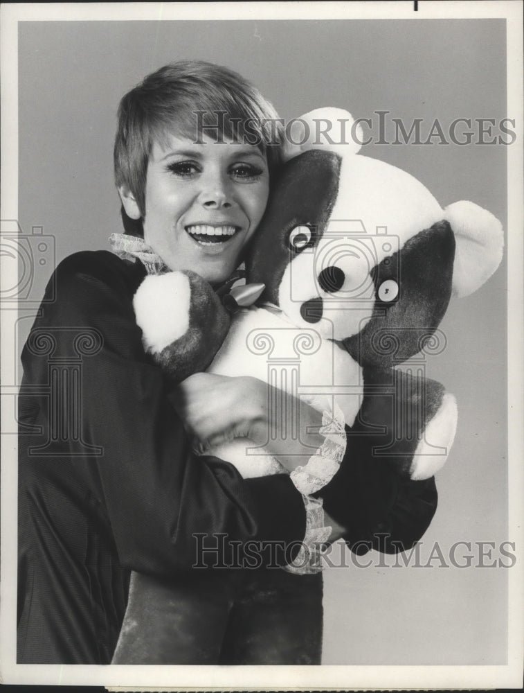
[{"label": "woman's short light-coloured hair with straight-cut bangs", "polygon": [[[145,214],[147,164],[155,141],[174,130],[185,137],[216,132],[246,138],[267,156],[270,175],[281,160],[282,121],[242,76],[201,60],[173,62],[128,91],[118,107],[114,146],[117,186],[126,184]],[[131,231],[136,234],[135,231]]]}]

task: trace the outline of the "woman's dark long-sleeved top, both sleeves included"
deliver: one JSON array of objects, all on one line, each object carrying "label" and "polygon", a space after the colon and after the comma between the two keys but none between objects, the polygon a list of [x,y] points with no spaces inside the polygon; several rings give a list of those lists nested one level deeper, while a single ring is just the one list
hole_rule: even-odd
[{"label": "woman's dark long-sleeved top, both sleeves included", "polygon": [[[195,534],[284,543],[305,534],[287,475],[243,480],[227,462],[192,455],[134,319],[144,275],[105,251],[66,258],[22,353],[19,663],[109,663],[130,570],[187,574]],[[377,532],[413,545],[436,501],[433,480],[406,482],[356,459],[325,491],[359,550]]]}]

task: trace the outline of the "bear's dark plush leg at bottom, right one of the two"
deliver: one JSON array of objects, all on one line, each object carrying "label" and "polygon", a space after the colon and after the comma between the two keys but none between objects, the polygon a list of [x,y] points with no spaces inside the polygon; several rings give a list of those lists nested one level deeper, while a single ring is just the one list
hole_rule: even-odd
[{"label": "bear's dark plush leg at bottom, right one of the two", "polygon": [[322,574],[295,575],[280,568],[246,573],[219,663],[320,665]]}]

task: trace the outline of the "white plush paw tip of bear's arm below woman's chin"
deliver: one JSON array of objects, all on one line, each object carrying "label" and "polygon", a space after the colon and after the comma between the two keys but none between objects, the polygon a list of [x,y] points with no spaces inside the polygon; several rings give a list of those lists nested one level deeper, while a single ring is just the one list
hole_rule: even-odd
[{"label": "white plush paw tip of bear's arm below woman's chin", "polygon": [[134,295],[133,307],[146,351],[159,353],[186,334],[190,299],[187,274],[168,272],[144,279]]}]

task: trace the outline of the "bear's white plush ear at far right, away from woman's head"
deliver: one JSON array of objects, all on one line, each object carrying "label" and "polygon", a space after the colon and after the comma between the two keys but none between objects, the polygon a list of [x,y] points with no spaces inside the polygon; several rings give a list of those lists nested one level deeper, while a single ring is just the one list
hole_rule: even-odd
[{"label": "bear's white plush ear at far right, away from woman's head", "polygon": [[500,221],[474,202],[461,200],[444,209],[455,233],[453,296],[469,296],[491,277],[503,256]]}]

